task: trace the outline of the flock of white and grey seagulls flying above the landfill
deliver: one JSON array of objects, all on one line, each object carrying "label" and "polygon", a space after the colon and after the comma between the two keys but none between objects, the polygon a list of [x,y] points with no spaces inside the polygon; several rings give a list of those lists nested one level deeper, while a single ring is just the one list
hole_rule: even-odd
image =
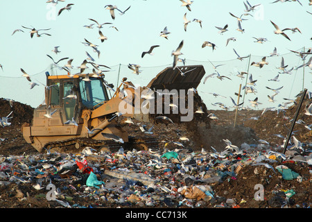
[{"label": "flock of white and grey seagulls flying above the landfill", "polygon": [[[52,3],[54,4],[55,6],[58,5],[59,2],[64,2],[65,0],[49,0],[49,1],[46,1],[46,3]],[[194,3],[194,1],[190,1],[190,0],[180,0],[182,2],[182,7],[185,7],[187,8],[187,10],[189,12],[191,12],[191,5]],[[302,5],[302,3],[298,0],[277,0],[277,1],[274,1],[272,3],[277,3],[277,2],[281,2],[281,3],[284,3],[286,1],[297,1],[298,3],[300,3],[300,5]],[[241,32],[241,33],[244,33],[245,32],[245,29],[242,28],[241,26],[241,23],[243,21],[246,21],[248,19],[245,19],[245,17],[248,17],[248,16],[253,16],[252,15],[252,12],[258,7],[260,6],[261,4],[256,4],[256,5],[251,5],[248,1],[244,1],[243,2],[243,5],[245,6],[245,9],[244,9],[244,12],[240,15],[240,16],[236,16],[234,15],[234,13],[232,12],[229,12],[229,15],[231,17],[234,17],[236,20],[237,20],[237,28],[236,30]],[[312,6],[312,0],[309,0],[309,5]],[[60,8],[60,10],[58,11],[58,16],[61,16],[62,13],[64,13],[64,11],[70,11],[73,7],[75,6],[75,4],[73,3],[68,3],[66,6],[64,6],[63,8]],[[119,15],[125,15],[125,13],[130,10],[130,7],[131,6],[128,6],[128,8],[126,8],[125,10],[121,10],[119,9],[117,6],[113,6],[113,5],[106,5],[104,6],[104,8],[106,10],[109,10],[110,12],[110,16],[112,17],[112,20],[114,21],[114,19],[116,18],[116,15],[115,15],[115,12],[118,11],[119,12]],[[308,11],[307,11],[308,12]],[[311,12],[308,12],[309,14],[311,14]],[[98,22],[96,21],[96,19],[92,19],[92,18],[89,18],[89,21],[92,21],[93,23],[92,24],[89,24],[89,25],[85,25],[84,27],[85,28],[89,28],[89,29],[92,29],[94,27],[98,28],[98,40],[101,41],[101,43],[105,42],[105,40],[107,40],[107,37],[105,35],[103,35],[101,29],[104,27],[104,26],[109,26],[110,28],[114,28],[116,31],[119,31],[113,24],[112,22],[105,22],[105,23],[101,23],[101,22]],[[191,23],[191,22],[197,22],[200,26],[200,28],[202,28],[202,20],[200,19],[193,19],[193,20],[189,20],[187,19],[187,12],[184,13],[184,16],[183,16],[183,28],[184,28],[184,31],[187,32],[187,26]],[[292,33],[296,33],[296,32],[299,32],[299,33],[302,33],[300,31],[299,28],[295,27],[295,28],[279,28],[279,26],[277,24],[275,24],[275,22],[272,22],[270,21],[270,23],[272,24],[272,26],[275,28],[275,31],[274,33],[276,35],[281,35],[282,37],[285,37],[287,40],[291,41],[291,38],[288,36],[288,31],[291,31]],[[42,37],[43,35],[47,35],[47,36],[51,36],[51,34],[49,33],[49,31],[51,30],[51,28],[34,28],[34,27],[26,27],[26,26],[21,26],[22,28],[24,28],[24,30],[29,30],[29,33],[31,35],[31,38],[37,36],[37,37]],[[228,24],[225,24],[225,26],[215,26],[215,28],[218,30],[218,33],[220,35],[223,35],[223,33],[229,31],[227,28],[229,28],[229,25]],[[23,29],[20,29],[20,28],[17,28],[15,29],[15,31],[13,31],[12,35],[16,35],[15,33],[17,32],[22,32],[24,33],[24,30]],[[166,40],[168,40],[168,35],[170,35],[171,32],[168,31],[168,27],[164,27],[164,29],[162,31],[160,31],[159,33],[159,37],[164,37]],[[253,37],[256,41],[255,42],[258,42],[258,43],[263,43],[263,42],[266,42],[267,39],[265,37]],[[94,53],[97,53],[97,57],[100,58],[100,55],[101,55],[101,51],[99,51],[98,47],[99,45],[98,44],[95,44],[94,42],[90,42],[89,40],[87,40],[86,38],[84,39],[85,42],[82,42],[82,44],[84,44],[85,46],[87,47],[90,47],[90,49],[92,49],[94,51]],[[312,40],[312,38],[311,38]],[[236,41],[236,38],[235,37],[229,37],[227,38],[226,40],[226,45],[227,46],[229,44],[230,41],[233,41],[235,42]],[[180,74],[182,76],[185,76],[187,74],[187,72],[189,71],[193,71],[193,69],[191,70],[188,70],[188,71],[182,71],[178,66],[178,62],[185,62],[185,59],[183,60],[182,58],[180,58],[180,56],[184,55],[182,53],[182,47],[184,45],[184,40],[182,40],[177,48],[175,50],[173,50],[171,52],[171,56],[173,56],[173,69],[177,68],[179,71],[180,71]],[[159,47],[159,45],[152,45],[150,46],[150,49],[146,50],[146,51],[143,51],[141,52],[141,58],[144,58],[144,56],[146,54],[149,54],[150,56],[153,56],[154,53],[153,51],[155,49],[157,49],[157,47]],[[202,48],[205,48],[205,47],[211,47],[212,51],[216,50],[216,44],[214,44],[213,42],[210,42],[210,41],[205,41],[202,43]],[[60,53],[60,50],[59,50],[60,46],[55,46],[54,49],[52,49],[51,51],[55,54],[58,54]],[[301,51],[301,52],[298,52],[298,51],[292,51],[293,53],[295,53],[297,56],[300,56],[302,58],[302,60],[306,60],[306,57],[311,55],[312,54],[312,49],[310,48],[308,51]],[[237,59],[238,60],[244,60],[245,58],[248,58],[249,56],[239,56],[239,53],[233,49],[235,55],[237,56]],[[83,72],[85,71],[85,69],[88,69],[89,67],[87,67],[88,64],[92,65],[93,69],[92,69],[92,73],[94,76],[99,76],[101,74],[103,74],[103,72],[105,71],[109,71],[109,70],[103,70],[101,69],[101,67],[105,67],[107,69],[110,69],[110,67],[107,67],[106,65],[100,65],[100,64],[97,64],[95,62],[95,59],[92,58],[92,56],[86,51],[86,55],[87,57],[85,58],[85,60],[83,60],[83,62],[81,63],[81,65],[79,67],[77,67],[78,69],[80,69],[80,71],[76,74],[83,74]],[[60,60],[56,61],[53,59],[52,56],[50,55],[46,55],[48,56],[52,61],[53,61],[53,65],[55,65],[55,67],[58,67],[59,69],[64,69],[65,71],[67,71],[67,74],[70,76],[70,77],[73,77],[74,75],[76,74],[71,74],[71,69],[73,69],[73,65],[71,65],[71,63],[73,62],[73,58],[61,58]],[[270,56],[268,57],[272,57],[272,56],[279,56],[279,54],[277,53],[277,49],[275,47],[274,51],[270,54]],[[255,66],[255,67],[259,67],[259,69],[261,69],[262,67],[264,67],[265,65],[268,65],[268,61],[266,60],[267,59],[267,56],[264,56],[261,61],[259,62],[251,62],[250,63],[250,66]],[[59,62],[63,61],[63,60],[67,60],[67,63],[63,66],[59,65]],[[209,61],[210,62],[210,61]],[[208,78],[212,78],[214,76],[216,76],[218,79],[220,80],[223,80],[224,78],[227,78],[229,80],[231,80],[231,78],[227,77],[227,76],[224,76],[224,75],[220,75],[219,72],[217,71],[217,67],[221,66],[221,65],[213,65],[212,62],[210,62],[211,65],[213,66],[214,70],[216,72],[214,72],[213,74],[210,74],[208,76],[205,77],[205,80],[204,80],[204,84],[206,83],[207,79]],[[1,69],[3,69],[3,66],[0,65]],[[128,64],[128,68],[133,71],[133,74],[137,74],[139,75],[141,73],[141,71],[139,70],[141,66],[140,65],[137,65],[137,64],[133,64],[133,63],[129,63]],[[279,72],[279,74],[290,74],[291,71],[294,69],[294,68],[291,68],[291,69],[286,69],[288,67],[288,65],[285,65],[285,62],[284,62],[284,58],[281,58],[281,65],[278,69],[281,70],[281,72]],[[301,65],[299,67],[297,67],[296,69],[300,69],[302,67],[309,67],[310,69],[312,69],[312,56],[309,58],[309,60],[307,62],[304,63],[304,65]],[[35,87],[35,85],[38,85],[37,83],[34,83],[33,80],[31,79],[31,76],[28,75],[26,73],[26,71],[24,71],[24,69],[21,68],[21,72],[23,73],[22,76],[24,76],[31,84],[31,89],[33,87]],[[275,78],[271,78],[270,81],[278,81],[278,78],[279,78],[279,74],[277,76],[275,76]],[[256,82],[257,80],[254,80],[252,78],[252,74],[248,74],[247,72],[244,72],[244,71],[241,71],[237,74],[237,76],[239,76],[240,78],[245,78],[245,76],[248,76],[248,83],[246,86],[243,87],[243,89],[245,89],[245,93],[249,93],[249,92],[257,92],[257,90],[254,88],[254,86],[256,85]],[[85,74],[85,79],[84,80],[89,80],[89,74]],[[109,85],[105,85],[108,89],[112,89],[111,87],[109,87]],[[273,92],[275,92],[275,94],[269,96],[268,95],[268,99],[269,101],[271,102],[274,102],[274,97],[279,93],[279,89],[281,89],[281,87],[277,88],[277,89],[272,89],[270,87],[266,87],[270,90],[272,90]],[[46,89],[49,89],[48,87],[46,87]],[[309,92],[309,95],[311,95],[311,93]],[[220,96],[218,94],[214,94],[214,96]],[[243,105],[243,103],[239,103],[239,104],[236,104],[236,102],[234,101],[234,99],[232,99],[232,97],[230,97],[232,103],[233,103],[233,108],[241,108],[241,105]],[[257,105],[261,104],[259,103],[258,101],[258,98],[254,99],[254,100],[250,100],[250,103],[252,104],[253,107],[257,107]],[[212,105],[218,105],[220,108],[223,108],[223,109],[226,109],[227,110],[227,107],[223,104],[223,103],[215,103],[215,104],[212,104]],[[312,112],[311,112],[311,105],[307,105],[306,108],[305,108],[305,114],[306,115],[309,115],[311,116],[312,115]],[[47,118],[52,118],[52,115],[53,113],[55,112],[55,110],[51,110],[51,107],[49,106],[49,108],[47,108],[47,112],[46,112],[46,117]],[[200,108],[198,108],[198,111],[196,111],[196,113],[202,113],[202,110],[200,110]],[[2,126],[8,126],[9,123],[8,123],[8,119],[10,118],[9,117],[10,114],[8,115],[8,117],[3,117],[2,120],[1,120],[1,125]],[[216,117],[216,115],[214,114],[209,114],[208,116],[209,118],[211,119],[218,119],[218,117]],[[158,117],[159,119],[162,118],[162,119],[166,119],[168,121],[171,121],[170,119],[168,119],[168,117]],[[129,119],[127,119],[128,122],[130,122]],[[69,121],[67,121],[66,123],[64,124],[74,124],[76,125],[77,123],[73,120],[73,119],[70,119]],[[309,126],[309,125],[307,125]],[[150,128],[150,129],[146,129],[144,128],[143,126],[141,127],[141,130],[142,132],[151,132],[151,130],[153,129]],[[88,129],[89,130],[89,129]],[[91,130],[89,130],[89,132],[91,133]],[[103,135],[105,137],[108,137],[107,135]],[[116,138],[114,138],[116,139]],[[119,140],[120,141],[120,140]]]}]

